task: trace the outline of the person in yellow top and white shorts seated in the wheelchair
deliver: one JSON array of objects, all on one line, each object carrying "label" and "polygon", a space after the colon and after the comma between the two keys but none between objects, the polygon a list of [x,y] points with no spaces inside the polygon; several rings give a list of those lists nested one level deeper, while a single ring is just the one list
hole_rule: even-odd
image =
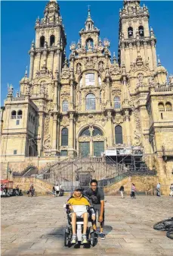
[{"label": "person in yellow top and white shorts seated in the wheelchair", "polygon": [[88,210],[90,210],[91,221],[95,220],[94,210],[91,208],[91,204],[88,199],[82,195],[82,188],[76,187],[73,196],[67,201],[67,209],[69,209],[69,216],[71,217],[72,224],[72,239],[71,244],[76,244],[76,220],[83,219],[83,230],[82,230],[82,244],[87,244],[87,227],[88,227]]}]

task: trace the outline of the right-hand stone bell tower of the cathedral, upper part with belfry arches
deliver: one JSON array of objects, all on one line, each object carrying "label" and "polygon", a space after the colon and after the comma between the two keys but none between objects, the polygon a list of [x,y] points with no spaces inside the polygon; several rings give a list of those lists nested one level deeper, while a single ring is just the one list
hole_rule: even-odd
[{"label": "right-hand stone bell tower of the cathedral, upper part with belfry arches", "polygon": [[125,65],[126,72],[139,55],[150,71],[156,71],[156,37],[149,30],[149,16],[147,6],[136,0],[125,0],[119,10],[119,65]]}]

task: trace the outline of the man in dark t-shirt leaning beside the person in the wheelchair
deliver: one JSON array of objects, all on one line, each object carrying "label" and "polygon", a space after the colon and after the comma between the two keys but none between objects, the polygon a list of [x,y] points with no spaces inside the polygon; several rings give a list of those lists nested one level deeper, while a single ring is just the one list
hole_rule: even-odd
[{"label": "man in dark t-shirt leaning beside the person in the wheelchair", "polygon": [[[100,239],[105,239],[103,234],[103,224],[104,224],[104,193],[103,190],[97,188],[97,180],[92,179],[90,182],[91,188],[84,191],[85,196],[91,199],[94,207],[95,216],[98,212],[98,222],[100,222]],[[96,232],[96,220],[94,221],[93,229]]]}]

